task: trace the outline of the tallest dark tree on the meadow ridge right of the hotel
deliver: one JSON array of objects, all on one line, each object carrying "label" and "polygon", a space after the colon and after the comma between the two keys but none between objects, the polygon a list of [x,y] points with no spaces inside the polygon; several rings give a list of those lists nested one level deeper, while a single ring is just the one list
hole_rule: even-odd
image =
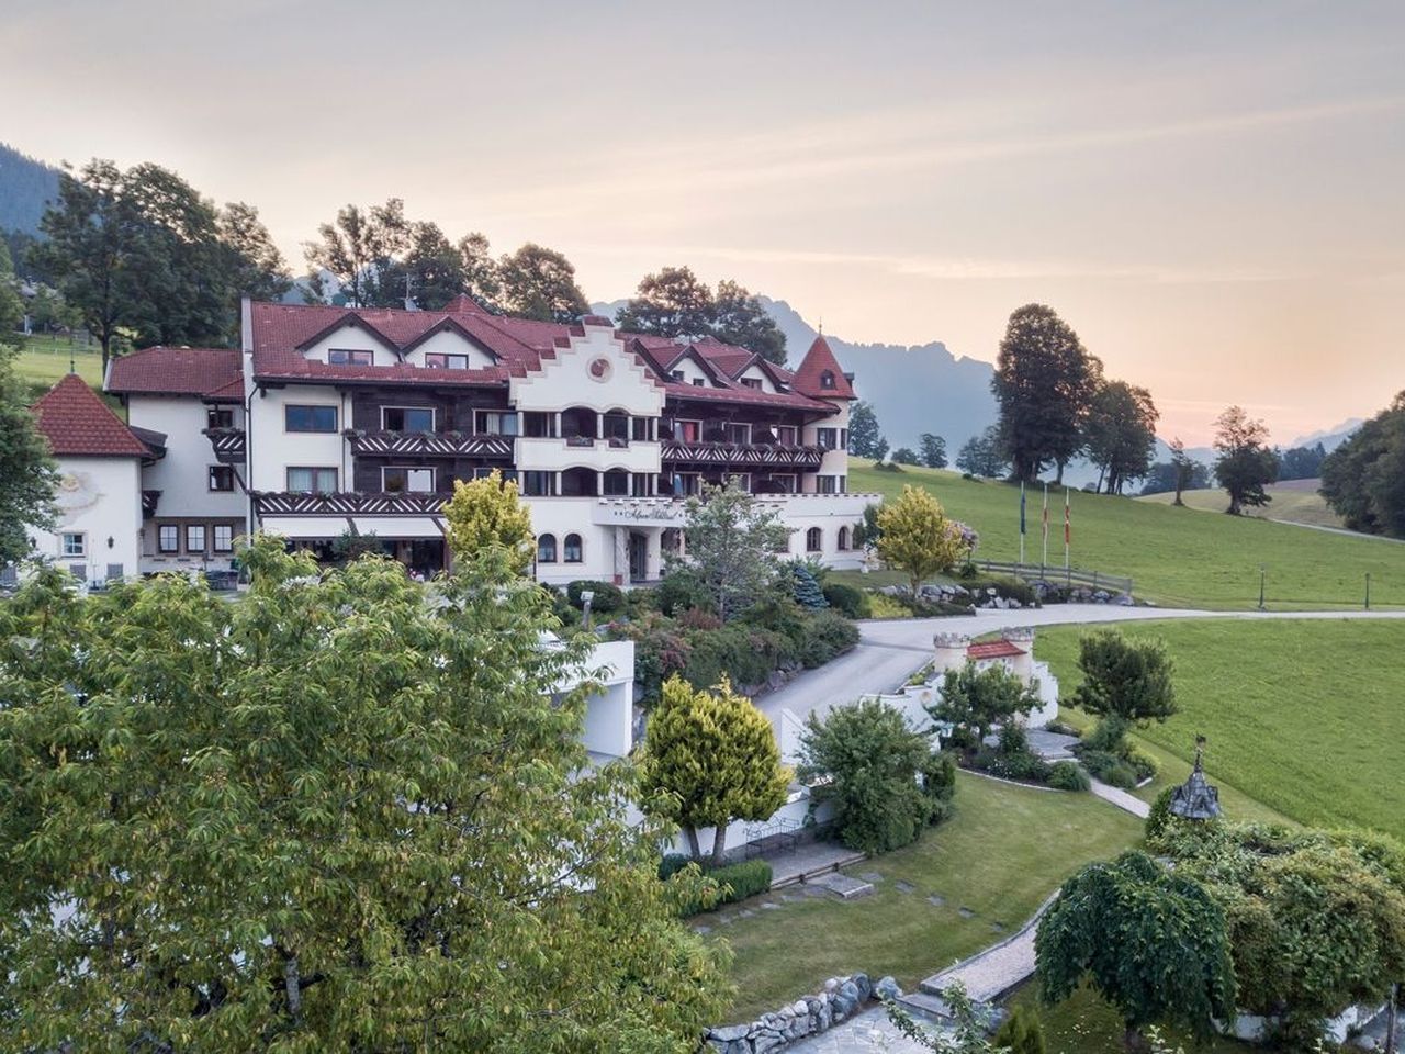
[{"label": "tallest dark tree on the meadow ridge right of the hotel", "polygon": [[1045,465],[1064,465],[1083,445],[1083,422],[1102,367],[1078,333],[1043,304],[1010,315],[991,389],[1000,403],[1000,441],[1014,478],[1034,482]]}]

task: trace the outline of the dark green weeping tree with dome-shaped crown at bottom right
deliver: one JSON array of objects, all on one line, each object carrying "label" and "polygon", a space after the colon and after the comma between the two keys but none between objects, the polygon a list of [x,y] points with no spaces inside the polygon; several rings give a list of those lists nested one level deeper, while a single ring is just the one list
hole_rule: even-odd
[{"label": "dark green weeping tree with dome-shaped crown at bottom right", "polygon": [[1057,1003],[1085,982],[1116,1006],[1128,1050],[1163,1022],[1208,1036],[1235,1012],[1235,974],[1220,905],[1198,883],[1145,853],[1123,853],[1064,883],[1034,937],[1040,994]]}]

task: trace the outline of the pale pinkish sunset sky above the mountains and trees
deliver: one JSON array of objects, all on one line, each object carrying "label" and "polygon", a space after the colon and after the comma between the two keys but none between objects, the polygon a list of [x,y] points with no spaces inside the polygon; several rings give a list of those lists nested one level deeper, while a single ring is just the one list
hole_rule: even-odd
[{"label": "pale pinkish sunset sky above the mountains and trees", "polygon": [[1190,445],[1405,388],[1399,3],[0,0],[0,138],[254,204],[298,271],[393,195],[596,301],[688,264],[982,360],[1050,304]]}]

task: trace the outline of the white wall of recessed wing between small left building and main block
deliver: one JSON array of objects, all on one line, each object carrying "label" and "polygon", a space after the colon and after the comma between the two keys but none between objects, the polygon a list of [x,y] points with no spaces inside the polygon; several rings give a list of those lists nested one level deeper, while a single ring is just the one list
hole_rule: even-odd
[{"label": "white wall of recessed wing between small left building and main block", "polygon": [[[128,398],[126,422],[164,433],[166,457],[142,472],[142,488],[160,490],[159,516],[221,517],[244,516],[244,495],[236,481],[232,492],[209,489],[209,468],[219,464],[209,438],[202,436],[208,406],[198,398],[132,395]],[[221,403],[233,412],[235,427],[243,427],[242,406]],[[243,465],[235,471],[242,476]]]}]

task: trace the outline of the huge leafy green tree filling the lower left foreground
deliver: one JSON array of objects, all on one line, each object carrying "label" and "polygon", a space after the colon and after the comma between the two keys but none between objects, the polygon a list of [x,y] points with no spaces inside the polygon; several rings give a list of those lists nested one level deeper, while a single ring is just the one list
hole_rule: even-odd
[{"label": "huge leafy green tree filling the lower left foreground", "polygon": [[[719,963],[502,549],[0,604],[0,1048],[691,1051]],[[561,690],[563,683],[580,687]]]}]

